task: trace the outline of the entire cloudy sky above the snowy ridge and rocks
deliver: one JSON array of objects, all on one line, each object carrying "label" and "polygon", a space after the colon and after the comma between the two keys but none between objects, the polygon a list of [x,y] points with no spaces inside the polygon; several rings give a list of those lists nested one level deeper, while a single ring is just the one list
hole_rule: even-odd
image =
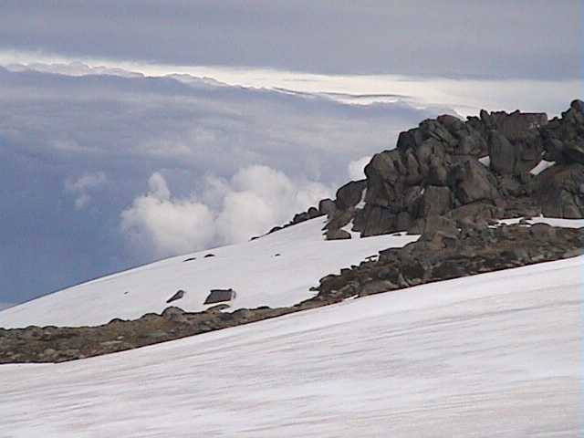
[{"label": "entire cloudy sky above the snowy ridge and rocks", "polygon": [[262,234],[425,118],[583,94],[581,1],[0,6],[0,308]]}]

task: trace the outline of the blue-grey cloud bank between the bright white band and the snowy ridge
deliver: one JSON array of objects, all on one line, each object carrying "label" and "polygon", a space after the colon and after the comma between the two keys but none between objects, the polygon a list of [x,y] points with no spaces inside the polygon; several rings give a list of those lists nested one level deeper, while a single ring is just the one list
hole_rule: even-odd
[{"label": "blue-grey cloud bank between the bright white band and the snowy ridge", "polygon": [[[185,251],[173,245],[177,228],[210,222],[193,212],[218,223],[211,237],[191,233],[193,245],[247,238],[234,233],[237,212],[225,199],[263,209],[250,230],[287,220],[345,182],[350,161],[443,110],[0,68],[0,302]],[[148,214],[161,211],[176,221],[152,222]],[[154,245],[129,245],[126,229]]]}]

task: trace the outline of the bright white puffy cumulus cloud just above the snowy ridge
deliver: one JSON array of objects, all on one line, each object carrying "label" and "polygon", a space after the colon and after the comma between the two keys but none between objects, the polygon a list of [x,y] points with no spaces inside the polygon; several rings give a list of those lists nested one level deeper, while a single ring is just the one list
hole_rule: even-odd
[{"label": "bright white puffy cumulus cloud just above the snowy ridge", "polygon": [[121,213],[120,230],[133,250],[154,257],[249,240],[332,193],[321,183],[293,183],[267,166],[246,167],[229,181],[208,175],[203,193],[187,198],[173,196],[160,172],[148,185]]}]

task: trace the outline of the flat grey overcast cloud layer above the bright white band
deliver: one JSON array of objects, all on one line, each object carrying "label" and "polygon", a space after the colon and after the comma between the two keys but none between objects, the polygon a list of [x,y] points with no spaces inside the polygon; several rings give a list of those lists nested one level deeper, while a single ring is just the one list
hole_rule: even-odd
[{"label": "flat grey overcast cloud layer above the bright white band", "polygon": [[582,2],[4,0],[0,48],[325,73],[580,78]]}]

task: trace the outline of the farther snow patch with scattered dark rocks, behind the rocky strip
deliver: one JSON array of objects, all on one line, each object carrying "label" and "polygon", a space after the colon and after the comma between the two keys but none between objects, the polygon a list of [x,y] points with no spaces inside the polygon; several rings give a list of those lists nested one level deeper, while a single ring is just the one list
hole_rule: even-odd
[{"label": "farther snow patch with scattered dark rocks, behind the rocky strip", "polygon": [[[325,241],[323,218],[297,224],[251,242],[172,257],[136,269],[69,287],[15,308],[0,311],[0,327],[28,325],[99,325],[112,318],[140,318],[160,313],[178,290],[186,295],[172,303],[200,311],[212,288],[233,287],[234,308],[291,306],[312,297],[318,279],[359,264],[369,255],[417,239],[382,235]],[[204,255],[214,254],[205,258]],[[196,260],[184,262],[196,257]]]}]

